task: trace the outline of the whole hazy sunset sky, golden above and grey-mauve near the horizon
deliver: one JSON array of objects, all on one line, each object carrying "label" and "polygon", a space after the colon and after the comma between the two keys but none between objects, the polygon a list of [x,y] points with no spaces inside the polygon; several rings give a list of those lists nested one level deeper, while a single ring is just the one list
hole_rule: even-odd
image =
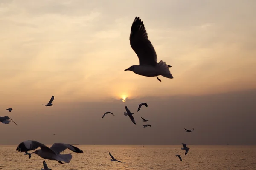
[{"label": "whole hazy sunset sky, golden above and grey-mauve near the horizon", "polygon": [[[18,124],[0,124],[0,144],[255,144],[255,6],[0,0],[0,113]],[[136,16],[174,79],[124,71],[139,64],[129,42]],[[140,102],[148,108],[137,112]],[[116,116],[101,119],[106,111]]]}]

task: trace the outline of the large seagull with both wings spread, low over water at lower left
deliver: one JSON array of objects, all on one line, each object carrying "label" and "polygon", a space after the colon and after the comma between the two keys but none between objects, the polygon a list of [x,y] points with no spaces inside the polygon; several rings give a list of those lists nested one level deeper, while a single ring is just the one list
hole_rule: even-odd
[{"label": "large seagull with both wings spread, low over water at lower left", "polygon": [[41,149],[38,149],[32,153],[35,153],[44,159],[56,160],[60,164],[63,164],[61,161],[64,161],[65,163],[69,163],[70,160],[72,159],[72,155],[70,153],[69,154],[60,154],[61,152],[63,152],[66,149],[72,150],[73,152],[76,152],[76,153],[83,153],[82,150],[80,150],[79,148],[74,147],[70,144],[55,143],[52,145],[52,147],[49,148],[49,147],[45,146],[44,144],[41,144],[40,142],[31,141],[31,140],[21,142],[18,145],[16,150],[18,150],[18,152],[27,152],[29,150],[35,150],[38,147],[40,147]]}]

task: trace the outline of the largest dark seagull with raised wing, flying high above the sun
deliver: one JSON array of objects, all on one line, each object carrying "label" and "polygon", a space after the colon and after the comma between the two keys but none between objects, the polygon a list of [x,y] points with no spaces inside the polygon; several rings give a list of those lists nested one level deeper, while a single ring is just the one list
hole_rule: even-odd
[{"label": "largest dark seagull with raised wing, flying high above the sun", "polygon": [[[170,79],[173,78],[169,70],[169,67],[171,67],[170,65],[167,65],[166,62],[162,60],[157,63],[156,51],[150,40],[148,40],[146,28],[140,17],[135,17],[134,22],[132,23],[130,45],[139,57],[140,64],[132,65],[125,69],[125,71],[133,71],[135,74],[146,77],[157,77],[162,75],[163,77]],[[161,82],[158,77],[157,79]]]}]

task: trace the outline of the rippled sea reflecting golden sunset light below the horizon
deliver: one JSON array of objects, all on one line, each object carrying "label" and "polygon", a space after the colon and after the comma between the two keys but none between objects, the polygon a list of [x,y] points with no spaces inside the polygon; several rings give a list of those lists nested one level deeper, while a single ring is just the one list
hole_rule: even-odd
[{"label": "rippled sea reflecting golden sunset light below the horizon", "polygon": [[[47,145],[48,146],[48,145]],[[52,170],[256,170],[256,146],[189,145],[75,145],[84,153],[72,153],[70,163],[59,164],[38,155],[16,151],[16,145],[0,146],[0,170],[41,170],[45,160]],[[50,147],[50,145],[48,146]],[[111,162],[115,159],[126,162]],[[31,151],[29,152],[31,153]],[[183,162],[175,155],[181,155]]]}]

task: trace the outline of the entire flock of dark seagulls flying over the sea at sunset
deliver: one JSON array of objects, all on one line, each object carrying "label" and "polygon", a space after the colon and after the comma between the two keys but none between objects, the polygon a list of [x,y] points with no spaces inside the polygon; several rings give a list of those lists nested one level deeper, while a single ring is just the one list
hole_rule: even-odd
[{"label": "entire flock of dark seagulls flying over the sea at sunset", "polygon": [[[157,80],[159,80],[160,82],[161,82],[161,80],[158,78],[158,76],[160,76],[160,75],[163,77],[169,78],[169,79],[173,79],[173,76],[169,70],[169,68],[172,66],[167,65],[166,62],[164,62],[162,60],[160,62],[157,62],[156,51],[155,51],[153,45],[151,44],[150,40],[148,40],[147,31],[146,31],[143,21],[141,21],[140,17],[135,17],[135,19],[132,23],[131,33],[130,33],[130,45],[131,45],[131,48],[134,50],[134,52],[137,54],[137,56],[139,58],[139,65],[132,65],[131,67],[125,69],[125,71],[133,71],[135,74],[138,74],[141,76],[146,76],[146,77],[157,77]],[[43,105],[44,106],[52,106],[53,100],[54,100],[54,96],[51,97],[50,101],[47,104],[45,104],[45,105],[43,104]],[[145,107],[148,107],[147,103],[140,103],[137,111],[140,111],[140,108],[143,105],[145,105]],[[6,110],[11,112],[13,109],[8,108]],[[128,109],[127,106],[125,106],[125,110],[126,110],[126,112],[124,112],[124,115],[128,116],[131,119],[131,121],[136,125],[136,122],[133,117],[134,113],[131,113],[131,111]],[[106,112],[102,116],[102,119],[108,113],[115,116],[111,112]],[[147,119],[144,119],[143,117],[141,117],[141,118],[143,119],[142,122],[149,121]],[[4,124],[9,124],[11,121],[14,122],[11,118],[9,118],[9,116],[0,117],[0,122],[2,122]],[[143,125],[144,128],[148,127],[148,126],[152,127],[149,124]],[[192,132],[192,130],[194,130],[194,129],[192,129],[192,130],[185,129],[185,130],[186,130],[186,132]],[[189,151],[189,147],[187,147],[186,144],[184,144],[184,143],[182,143],[182,144],[183,144],[183,148],[181,148],[181,150],[185,150],[185,155],[186,155]],[[40,147],[40,149],[35,150],[38,147]],[[43,159],[54,160],[54,161],[58,161],[58,163],[60,163],[60,164],[64,164],[63,162],[69,163],[70,160],[72,159],[72,155],[70,153],[69,154],[61,154],[61,152],[63,152],[66,149],[69,149],[75,153],[83,153],[82,150],[80,150],[79,148],[77,148],[73,145],[70,145],[70,144],[54,143],[51,147],[47,147],[46,145],[44,145],[38,141],[32,141],[32,140],[27,140],[27,141],[21,142],[17,146],[16,150],[18,152],[25,152],[24,155],[29,155],[29,159],[31,158],[32,154],[36,154]],[[30,151],[30,150],[35,150],[35,151],[32,153],[28,153],[28,151]],[[121,161],[118,161],[117,159],[115,159],[111,155],[111,153],[109,153],[109,155],[111,156],[111,159],[110,159],[111,161],[125,163],[125,162],[121,162]],[[176,155],[176,156],[179,157],[180,161],[182,161],[180,155]],[[44,166],[44,169],[41,169],[41,170],[51,170],[48,168],[45,160],[43,161],[43,166]]]}]

